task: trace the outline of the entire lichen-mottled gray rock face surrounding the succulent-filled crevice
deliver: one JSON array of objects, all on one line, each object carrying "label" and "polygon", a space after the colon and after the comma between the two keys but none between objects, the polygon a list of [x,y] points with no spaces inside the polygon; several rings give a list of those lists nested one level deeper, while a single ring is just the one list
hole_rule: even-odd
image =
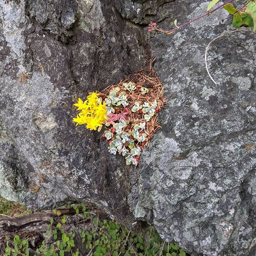
[{"label": "entire lichen-mottled gray rock face surrounding the succulent-filled crevice", "polygon": [[[0,194],[37,210],[86,202],[130,228],[153,224],[193,256],[254,256],[256,36],[212,43],[214,84],[204,52],[233,29],[224,10],[171,36],[136,25],[168,29],[207,4],[0,0]],[[71,106],[142,68],[146,42],[170,104],[133,169],[74,127]]]}]

